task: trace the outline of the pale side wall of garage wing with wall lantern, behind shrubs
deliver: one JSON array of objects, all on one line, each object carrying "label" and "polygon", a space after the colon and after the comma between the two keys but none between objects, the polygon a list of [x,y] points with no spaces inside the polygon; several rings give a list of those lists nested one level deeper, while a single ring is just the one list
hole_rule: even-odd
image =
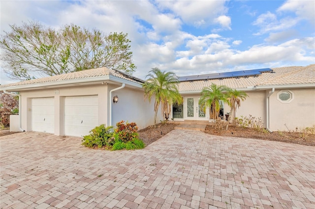
[{"label": "pale side wall of garage wing with wall lantern, behind shrubs", "polygon": [[[119,86],[109,85],[108,94],[111,89],[117,87]],[[113,104],[113,98],[109,101],[112,103],[112,126],[115,127],[116,123],[122,120],[128,123],[135,122],[139,130],[154,125],[154,98],[151,99],[150,103],[149,100],[144,100],[144,91],[142,89],[126,87],[114,91],[112,97],[115,95],[119,98],[118,103]],[[158,111],[157,123],[160,123],[160,120],[163,120],[161,107]]]}]

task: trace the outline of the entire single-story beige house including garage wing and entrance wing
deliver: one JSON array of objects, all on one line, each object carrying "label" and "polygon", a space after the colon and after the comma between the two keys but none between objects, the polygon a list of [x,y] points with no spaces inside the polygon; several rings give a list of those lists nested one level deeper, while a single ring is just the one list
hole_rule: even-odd
[{"label": "entire single-story beige house including garage wing and entrance wing", "polygon": [[[173,104],[176,121],[210,121],[199,108],[203,87],[212,83],[246,91],[232,117],[261,118],[270,131],[295,131],[315,125],[315,64],[196,75],[179,78],[183,104]],[[98,68],[1,85],[5,93],[20,93],[20,130],[56,135],[86,135],[97,125],[135,122],[139,129],[153,125],[154,101],[144,100],[144,80],[116,70]],[[118,97],[118,102],[114,101]],[[114,98],[115,97],[115,98]],[[221,115],[229,112],[221,104]],[[158,119],[162,120],[161,113]]]}]

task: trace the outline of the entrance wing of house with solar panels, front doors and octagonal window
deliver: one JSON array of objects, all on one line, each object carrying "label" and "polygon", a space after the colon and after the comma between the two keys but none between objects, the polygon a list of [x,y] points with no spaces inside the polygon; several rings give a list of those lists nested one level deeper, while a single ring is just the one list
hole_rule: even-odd
[{"label": "entrance wing of house with solar panels, front doors and octagonal window", "polygon": [[[261,118],[269,131],[297,131],[315,125],[315,64],[306,67],[281,67],[229,73],[180,77],[183,105],[173,105],[173,117],[184,120],[209,120],[208,109],[199,110],[201,90],[212,83],[245,91],[232,117],[252,115]],[[183,114],[181,111],[183,110]],[[230,111],[221,104],[221,115]],[[175,112],[175,115],[174,115]],[[194,113],[194,114],[193,114]]]}]

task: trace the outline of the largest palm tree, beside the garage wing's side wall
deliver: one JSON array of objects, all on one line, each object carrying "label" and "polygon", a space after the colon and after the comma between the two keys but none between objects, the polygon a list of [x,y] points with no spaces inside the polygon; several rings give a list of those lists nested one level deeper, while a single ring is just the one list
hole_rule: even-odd
[{"label": "largest palm tree, beside the garage wing's side wall", "polygon": [[154,103],[154,125],[157,124],[157,114],[159,104],[162,104],[162,114],[167,120],[171,112],[173,103],[182,104],[183,98],[178,92],[178,77],[172,72],[160,71],[158,68],[153,68],[146,76],[148,78],[142,85],[144,88],[145,99],[155,97]]}]

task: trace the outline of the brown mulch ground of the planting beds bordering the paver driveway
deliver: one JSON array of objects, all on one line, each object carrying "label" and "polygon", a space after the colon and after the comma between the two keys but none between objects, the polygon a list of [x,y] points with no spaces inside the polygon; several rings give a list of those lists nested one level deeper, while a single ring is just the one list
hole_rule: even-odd
[{"label": "brown mulch ground of the planting beds bordering the paver driveway", "polygon": [[[166,133],[174,130],[174,127],[177,126],[176,123],[166,123],[158,124],[156,128],[154,126],[147,127],[143,130],[138,131],[139,138],[141,138],[144,143],[147,145],[158,140]],[[275,131],[272,133],[259,133],[251,128],[238,128],[233,125],[230,125],[228,131],[217,132],[212,127],[213,125],[207,125],[205,133],[211,135],[220,135],[220,136],[232,136],[239,137],[240,140],[246,140],[246,138],[254,138],[261,140],[269,141],[281,141],[294,144],[302,144],[307,146],[315,146],[315,134],[310,133],[301,133],[301,132],[287,132],[287,131]],[[0,137],[4,135],[14,134],[16,132],[10,131],[0,131]]]}]

